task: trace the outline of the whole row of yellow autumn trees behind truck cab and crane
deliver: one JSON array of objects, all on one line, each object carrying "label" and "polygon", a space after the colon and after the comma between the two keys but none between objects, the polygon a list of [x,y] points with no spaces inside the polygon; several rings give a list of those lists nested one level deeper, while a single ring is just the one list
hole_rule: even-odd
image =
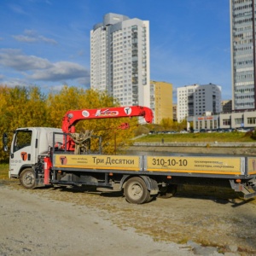
[{"label": "whole row of yellow autumn trees behind truck cab and crane", "polygon": [[[37,86],[10,88],[0,85],[0,134],[8,133],[10,148],[13,131],[17,128],[61,128],[62,117],[68,110],[118,106],[119,102],[112,96],[97,90],[64,86],[57,93],[49,92],[48,95],[45,95]],[[129,129],[118,129],[119,125],[127,122],[130,125]],[[134,136],[137,124],[137,119],[87,119],[79,121],[76,131],[93,131],[93,135],[102,137],[103,153],[114,154],[119,146],[131,143],[131,137]],[[96,147],[98,147],[98,142],[92,141],[92,150]],[[0,162],[8,159],[9,154],[1,150]]]}]

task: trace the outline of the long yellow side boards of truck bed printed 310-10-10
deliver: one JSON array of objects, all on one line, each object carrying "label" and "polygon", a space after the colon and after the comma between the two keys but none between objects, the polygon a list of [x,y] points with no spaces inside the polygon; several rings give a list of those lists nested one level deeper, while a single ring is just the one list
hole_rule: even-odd
[{"label": "long yellow side boards of truck bed printed 310-10-10", "polygon": [[194,156],[135,156],[98,154],[54,154],[53,168],[58,170],[143,172],[156,175],[211,177],[245,177],[255,174],[256,158],[194,157]]}]

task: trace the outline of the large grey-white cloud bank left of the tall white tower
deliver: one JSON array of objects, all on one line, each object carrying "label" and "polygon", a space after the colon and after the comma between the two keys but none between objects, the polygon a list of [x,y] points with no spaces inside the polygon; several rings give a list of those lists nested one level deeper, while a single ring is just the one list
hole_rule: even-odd
[{"label": "large grey-white cloud bank left of the tall white tower", "polygon": [[70,61],[52,63],[37,56],[25,55],[20,49],[0,49],[0,66],[18,71],[22,80],[29,84],[37,81],[90,84],[90,70],[82,65]]}]

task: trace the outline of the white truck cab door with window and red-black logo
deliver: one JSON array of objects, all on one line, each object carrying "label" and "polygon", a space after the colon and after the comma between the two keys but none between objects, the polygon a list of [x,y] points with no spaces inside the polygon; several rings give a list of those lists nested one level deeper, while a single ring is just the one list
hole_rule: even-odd
[{"label": "white truck cab door with window and red-black logo", "polygon": [[9,177],[17,177],[21,167],[34,164],[32,130],[17,130],[10,148]]}]

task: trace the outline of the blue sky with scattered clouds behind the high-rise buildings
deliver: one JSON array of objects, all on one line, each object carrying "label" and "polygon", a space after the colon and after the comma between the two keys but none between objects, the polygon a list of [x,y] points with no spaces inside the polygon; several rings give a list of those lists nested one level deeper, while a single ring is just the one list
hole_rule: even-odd
[{"label": "blue sky with scattered clouds behind the high-rise buildings", "polygon": [[229,0],[1,0],[0,84],[90,88],[90,30],[103,15],[149,20],[150,79],[218,84],[231,98]]}]

